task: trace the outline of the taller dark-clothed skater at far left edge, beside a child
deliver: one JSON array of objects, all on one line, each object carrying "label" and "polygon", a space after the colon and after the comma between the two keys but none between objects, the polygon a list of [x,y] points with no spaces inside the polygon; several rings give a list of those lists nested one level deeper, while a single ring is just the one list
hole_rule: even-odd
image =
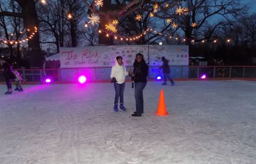
[{"label": "taller dark-clothed skater at far left edge, beside a child", "polygon": [[12,80],[16,78],[13,73],[12,66],[4,60],[0,60],[0,64],[2,65],[2,71],[7,86],[5,95],[12,94]]}]

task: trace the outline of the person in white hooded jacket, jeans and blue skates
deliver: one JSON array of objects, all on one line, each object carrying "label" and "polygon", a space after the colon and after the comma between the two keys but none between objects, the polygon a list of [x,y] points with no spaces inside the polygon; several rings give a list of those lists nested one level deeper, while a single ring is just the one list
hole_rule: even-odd
[{"label": "person in white hooded jacket, jeans and blue skates", "polygon": [[114,82],[115,88],[115,101],[114,101],[114,111],[118,112],[118,100],[120,97],[120,109],[126,111],[123,106],[123,91],[125,91],[125,77],[129,74],[126,72],[125,66],[123,66],[123,58],[121,56],[117,56],[115,58],[115,65],[112,66],[111,69],[111,79]]}]

